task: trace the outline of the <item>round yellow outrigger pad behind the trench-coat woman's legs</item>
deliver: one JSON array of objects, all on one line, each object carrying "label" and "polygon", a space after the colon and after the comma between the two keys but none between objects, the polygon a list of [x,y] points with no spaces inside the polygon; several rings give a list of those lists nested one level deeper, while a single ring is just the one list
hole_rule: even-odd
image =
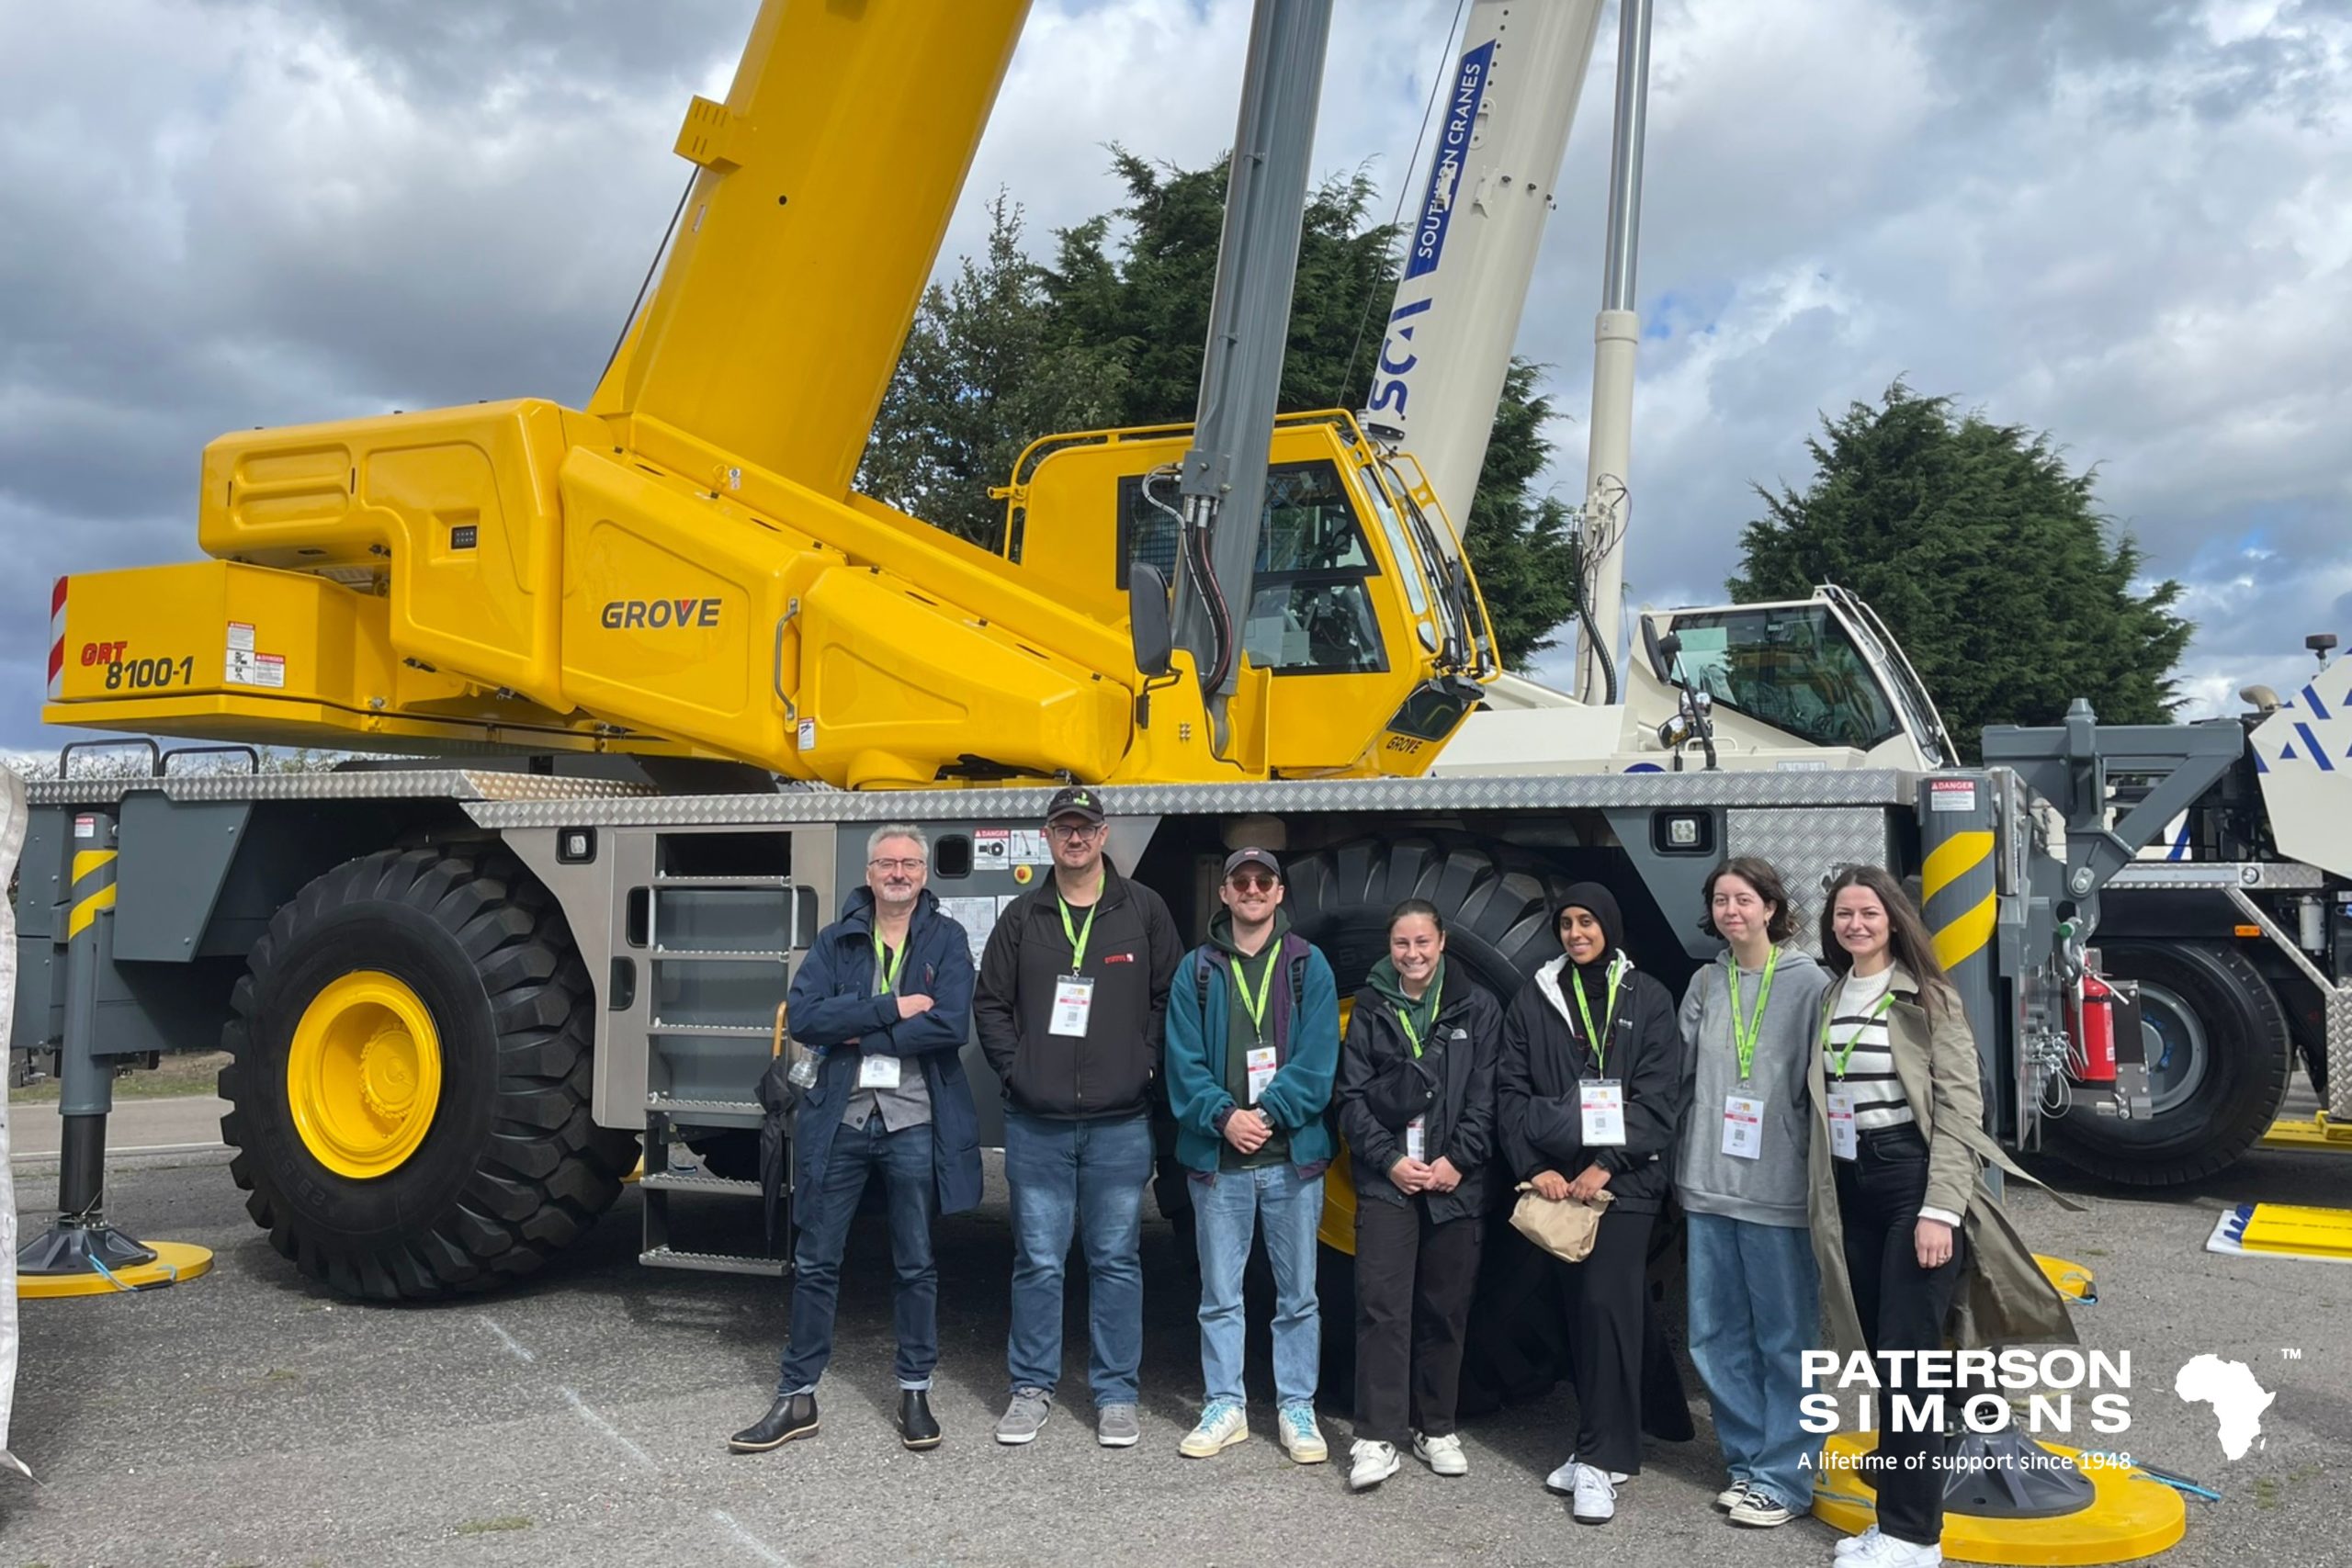
[{"label": "round yellow outrigger pad behind the trench-coat woman's legs", "polygon": [[[1872,1434],[1839,1432],[1820,1455],[1813,1516],[1858,1535],[1879,1519],[1877,1493],[1853,1462],[1877,1448]],[[2173,1547],[2190,1528],[2187,1500],[2169,1483],[2124,1465],[2084,1462],[2079,1448],[2042,1443],[2091,1479],[2091,1502],[2056,1519],[1983,1519],[1945,1509],[1943,1554],[1955,1563],[2126,1563]]]}]

